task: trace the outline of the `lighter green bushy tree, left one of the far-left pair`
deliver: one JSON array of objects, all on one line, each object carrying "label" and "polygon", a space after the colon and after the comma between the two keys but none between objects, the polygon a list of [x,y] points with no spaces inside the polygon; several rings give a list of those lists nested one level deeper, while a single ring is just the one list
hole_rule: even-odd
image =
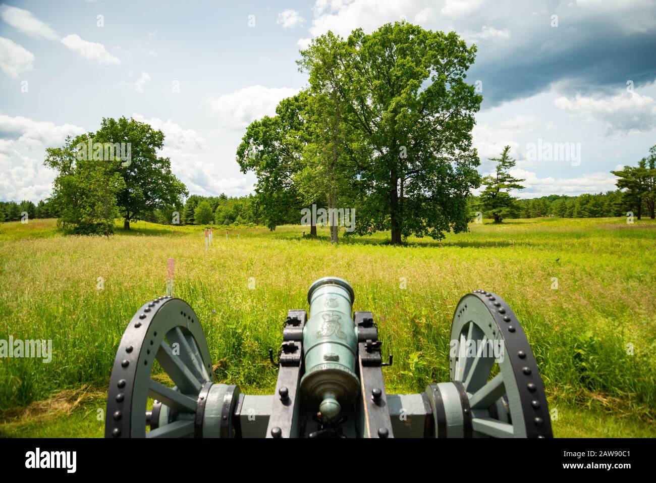
[{"label": "lighter green bushy tree, left one of the far-left pair", "polygon": [[45,165],[57,172],[49,204],[59,213],[58,225],[78,234],[110,234],[125,189],[119,173],[121,159],[78,156],[79,144],[92,134],[68,137],[61,148],[48,148]]}]

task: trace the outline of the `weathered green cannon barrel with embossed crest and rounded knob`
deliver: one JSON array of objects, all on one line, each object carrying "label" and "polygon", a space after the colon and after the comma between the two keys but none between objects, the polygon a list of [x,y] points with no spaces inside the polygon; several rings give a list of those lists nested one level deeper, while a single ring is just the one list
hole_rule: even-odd
[{"label": "weathered green cannon barrel with embossed crest and rounded knob", "polygon": [[354,299],[351,285],[336,277],[320,278],[308,290],[310,320],[303,329],[305,374],[300,389],[306,399],[319,403],[324,421],[337,419],[341,406],[353,402],[359,392]]}]

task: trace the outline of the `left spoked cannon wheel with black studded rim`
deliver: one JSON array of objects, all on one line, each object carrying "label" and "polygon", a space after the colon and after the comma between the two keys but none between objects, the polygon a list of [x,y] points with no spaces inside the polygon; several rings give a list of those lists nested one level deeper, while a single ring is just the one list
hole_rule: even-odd
[{"label": "left spoked cannon wheel with black studded rim", "polygon": [[[175,387],[152,379],[155,360]],[[114,360],[105,437],[194,436],[195,413],[203,400],[199,394],[213,379],[207,341],[194,310],[186,302],[171,297],[159,297],[144,304],[125,329]],[[157,419],[165,404],[167,411],[177,413],[176,421],[164,425],[153,421],[152,430],[146,432],[149,396],[156,400],[153,413]]]}]

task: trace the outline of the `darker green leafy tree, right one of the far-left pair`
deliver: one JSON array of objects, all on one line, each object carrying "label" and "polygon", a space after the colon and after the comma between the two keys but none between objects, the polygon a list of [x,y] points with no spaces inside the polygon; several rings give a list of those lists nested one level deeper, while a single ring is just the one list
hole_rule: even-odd
[{"label": "darker green leafy tree, right one of the far-left pair", "polygon": [[184,184],[171,172],[171,160],[158,156],[164,134],[133,118],[103,118],[94,135],[95,142],[129,143],[131,158],[123,161],[118,173],[125,188],[117,195],[119,213],[125,229],[155,209],[178,205],[188,194]]}]

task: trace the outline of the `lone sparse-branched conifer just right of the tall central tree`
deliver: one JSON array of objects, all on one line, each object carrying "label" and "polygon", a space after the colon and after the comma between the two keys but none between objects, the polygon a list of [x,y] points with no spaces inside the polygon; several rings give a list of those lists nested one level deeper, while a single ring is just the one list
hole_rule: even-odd
[{"label": "lone sparse-branched conifer just right of the tall central tree", "polygon": [[515,166],[515,160],[510,158],[509,153],[510,146],[505,146],[501,158],[491,158],[490,161],[497,161],[495,173],[483,179],[485,189],[481,193],[480,202],[483,212],[492,217],[495,223],[501,223],[504,218],[512,217],[518,211],[516,198],[510,196],[510,192],[523,189],[520,184],[523,179],[509,173]]}]

